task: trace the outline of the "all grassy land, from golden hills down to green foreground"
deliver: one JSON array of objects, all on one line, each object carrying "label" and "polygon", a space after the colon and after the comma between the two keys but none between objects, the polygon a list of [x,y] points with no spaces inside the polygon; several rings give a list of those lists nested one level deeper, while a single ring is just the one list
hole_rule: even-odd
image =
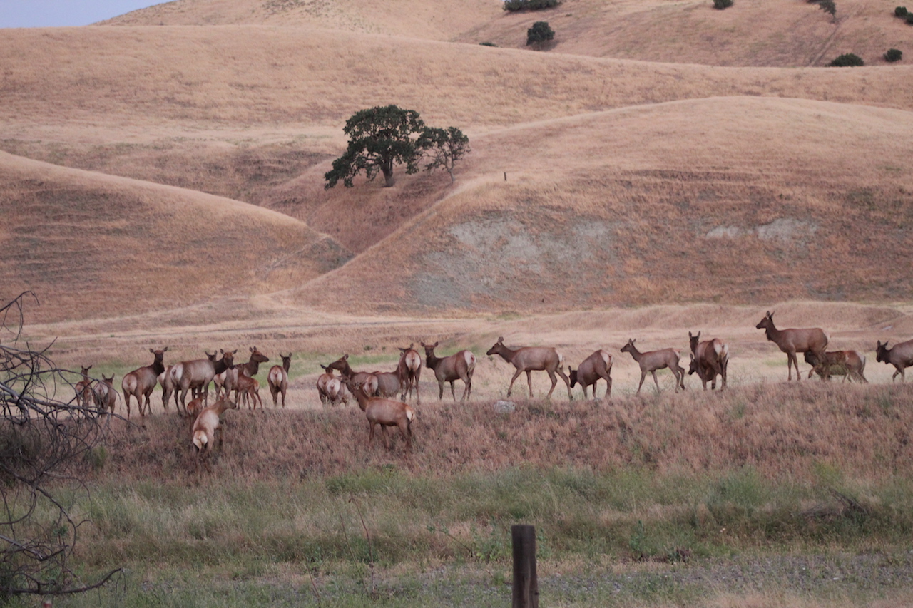
[{"label": "all grassy land, from golden hills down to green foreground", "polygon": [[[36,293],[26,340],[116,386],[150,347],[257,345],[264,384],[294,353],[289,411],[227,414],[211,474],[158,391],[152,419],[112,423],[73,504],[86,568],[126,564],[126,591],[61,605],[501,605],[520,519],[553,605],[913,605],[910,395],[874,352],[913,337],[913,27],[893,12],[177,0],[4,30],[0,295]],[[824,68],[845,52],[866,67]],[[391,103],[468,135],[456,183],[325,191],[344,122]],[[768,309],[864,351],[871,385],[784,386]],[[687,352],[697,330],[729,343],[730,391],[660,372],[635,396],[625,341]],[[498,336],[574,366],[610,351],[613,398],[545,402],[537,373],[495,414]],[[312,387],[319,363],[392,370],[420,341],[478,365],[464,405],[424,372],[405,460]]]}]

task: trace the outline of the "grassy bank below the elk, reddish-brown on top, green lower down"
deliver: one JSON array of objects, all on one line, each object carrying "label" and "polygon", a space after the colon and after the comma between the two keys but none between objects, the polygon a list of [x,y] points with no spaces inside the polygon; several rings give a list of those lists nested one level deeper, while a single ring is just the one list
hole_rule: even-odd
[{"label": "grassy bank below the elk, reddish-brown on top, green lower down", "polygon": [[426,405],[411,459],[366,447],[354,408],[229,412],[200,476],[184,421],[115,422],[72,497],[91,522],[79,559],[128,568],[121,605],[500,605],[524,522],[555,605],[903,599],[911,392]]}]

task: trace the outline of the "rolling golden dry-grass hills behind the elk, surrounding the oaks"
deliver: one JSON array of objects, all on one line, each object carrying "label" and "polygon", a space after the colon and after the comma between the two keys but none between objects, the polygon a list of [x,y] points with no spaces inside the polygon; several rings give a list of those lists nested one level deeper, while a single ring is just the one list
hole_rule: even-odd
[{"label": "rolling golden dry-grass hills behind the elk, surrounding the oaks", "polygon": [[[45,320],[272,291],[283,306],[383,315],[908,297],[913,67],[904,62],[727,68],[609,58],[596,44],[614,16],[644,40],[667,37],[699,54],[698,41],[647,21],[729,19],[720,32],[746,40],[742,3],[723,12],[607,3],[597,15],[596,4],[569,0],[561,15],[589,24],[575,39],[591,44],[571,50],[564,38],[535,55],[473,39],[507,37],[532,17],[499,3],[445,5],[446,26],[443,9],[421,0],[392,3],[371,27],[368,13],[356,18],[366,3],[340,6],[182,0],[112,20],[117,27],[6,31],[0,149],[16,158],[4,157],[0,183],[17,224],[3,230],[33,225],[42,264],[64,268],[49,278],[5,257],[6,284],[37,288]],[[852,30],[850,13],[881,18],[873,2],[845,6],[835,31]],[[781,19],[824,14],[774,8],[755,9],[771,16],[757,28],[770,39],[755,57],[777,47],[788,61],[759,61],[804,65],[811,51],[774,45],[771,32],[781,24],[811,39]],[[647,9],[685,13],[645,21]],[[416,24],[432,16],[423,34]],[[640,52],[631,47],[630,57]],[[469,135],[474,152],[456,185],[444,173],[400,172],[394,188],[357,180],[325,191],[344,121],[387,103]],[[33,177],[17,173],[26,166]],[[35,175],[49,186],[26,187]],[[159,213],[159,198],[192,217]],[[42,200],[76,217],[77,234],[99,216],[128,223],[89,247],[89,283],[108,287],[84,288],[78,238],[68,224],[37,223]],[[134,201],[145,224],[124,215]],[[223,205],[253,224],[231,222],[226,233]],[[264,222],[284,222],[287,236],[264,237]],[[886,238],[895,246],[882,246]],[[156,244],[170,256],[163,267],[114,271]],[[229,258],[241,259],[243,279],[223,276]],[[188,259],[196,269],[174,282],[167,266]],[[123,295],[132,292],[150,297]]]}]

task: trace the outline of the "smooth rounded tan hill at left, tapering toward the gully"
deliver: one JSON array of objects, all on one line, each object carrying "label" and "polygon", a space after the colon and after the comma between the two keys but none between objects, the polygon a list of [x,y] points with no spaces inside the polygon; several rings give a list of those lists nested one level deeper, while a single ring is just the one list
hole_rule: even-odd
[{"label": "smooth rounded tan hill at left, tapering toward the gully", "polygon": [[287,215],[0,152],[0,284],[29,320],[115,317],[298,286],[351,254]]}]

